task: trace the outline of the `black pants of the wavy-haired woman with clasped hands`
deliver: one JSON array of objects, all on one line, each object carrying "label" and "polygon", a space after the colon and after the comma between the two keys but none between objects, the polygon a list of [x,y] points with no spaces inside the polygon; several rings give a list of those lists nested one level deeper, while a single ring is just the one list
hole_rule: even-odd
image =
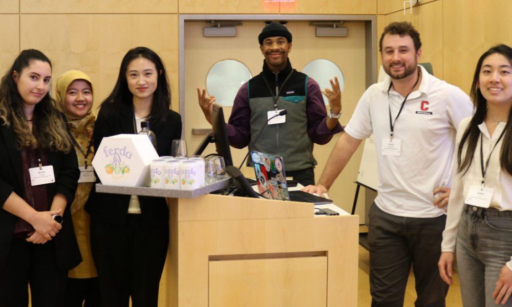
[{"label": "black pants of the wavy-haired woman with clasped hands", "polygon": [[6,267],[0,272],[0,305],[28,306],[28,283],[33,307],[65,306],[68,271],[57,269],[53,241],[28,243],[13,238]]}]

